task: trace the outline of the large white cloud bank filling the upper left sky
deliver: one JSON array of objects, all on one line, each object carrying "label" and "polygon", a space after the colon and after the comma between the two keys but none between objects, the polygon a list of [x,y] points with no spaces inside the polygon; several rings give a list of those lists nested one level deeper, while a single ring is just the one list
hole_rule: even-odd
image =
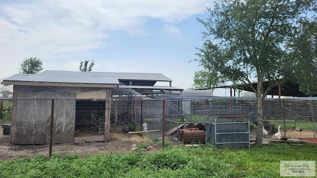
[{"label": "large white cloud bank filling the upper left sky", "polygon": [[[149,35],[143,28],[149,18],[168,22],[171,25],[165,25],[164,29],[180,37],[180,30],[172,24],[204,13],[211,3],[211,0],[0,2],[0,78],[17,73],[23,59],[31,56],[41,58],[45,69],[73,69],[71,66],[76,65],[77,70],[82,58],[89,58],[94,49],[108,45],[107,39],[113,31]],[[114,65],[111,61],[104,64],[109,68]]]}]

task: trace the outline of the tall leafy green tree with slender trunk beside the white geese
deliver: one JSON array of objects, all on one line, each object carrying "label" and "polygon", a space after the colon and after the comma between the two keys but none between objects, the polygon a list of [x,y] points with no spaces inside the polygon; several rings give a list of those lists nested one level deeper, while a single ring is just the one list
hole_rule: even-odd
[{"label": "tall leafy green tree with slender trunk beside the white geese", "polygon": [[[209,65],[225,81],[248,85],[256,94],[257,144],[262,144],[265,96],[294,74],[292,67],[297,63],[287,46],[298,36],[299,20],[307,19],[303,12],[314,3],[316,0],[220,0],[213,10],[207,8],[206,20],[198,19],[207,29],[203,32],[207,45],[202,50],[212,48],[221,56]],[[266,90],[264,81],[269,82]]]}]

